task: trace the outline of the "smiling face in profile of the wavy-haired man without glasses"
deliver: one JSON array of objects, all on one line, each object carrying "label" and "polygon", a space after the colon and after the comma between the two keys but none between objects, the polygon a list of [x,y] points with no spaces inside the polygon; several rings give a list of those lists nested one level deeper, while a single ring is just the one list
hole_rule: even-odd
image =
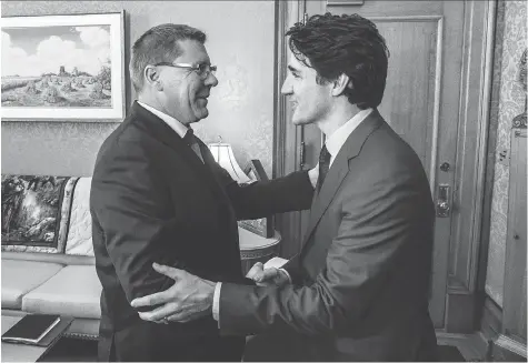
[{"label": "smiling face in profile of the wavy-haired man without glasses", "polygon": [[293,124],[316,123],[328,117],[332,105],[331,83],[318,84],[316,80],[315,69],[290,57],[281,93],[290,98]]}]

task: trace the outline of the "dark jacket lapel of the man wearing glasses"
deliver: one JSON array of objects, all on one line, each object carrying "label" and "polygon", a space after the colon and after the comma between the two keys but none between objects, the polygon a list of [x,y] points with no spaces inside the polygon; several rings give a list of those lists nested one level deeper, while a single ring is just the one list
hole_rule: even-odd
[{"label": "dark jacket lapel of the man wearing glasses", "polygon": [[[220,201],[226,201],[226,193],[221,190],[216,178],[208,165],[192,151],[191,148],[172,130],[163,120],[143,109],[137,102],[132,104],[131,114],[135,122],[143,129],[145,132],[152,134],[153,138],[173,149],[178,154],[182,155],[189,167],[198,174],[199,179],[205,182]],[[201,140],[199,141],[201,142]],[[206,147],[207,148],[207,147]],[[202,155],[205,157],[205,155]]]}]

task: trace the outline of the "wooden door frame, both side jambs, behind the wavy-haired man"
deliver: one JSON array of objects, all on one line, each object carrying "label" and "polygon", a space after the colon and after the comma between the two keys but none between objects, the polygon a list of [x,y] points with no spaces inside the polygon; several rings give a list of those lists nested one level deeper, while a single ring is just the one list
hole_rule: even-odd
[{"label": "wooden door frame, both side jambs, behind the wavy-haired man", "polygon": [[[320,0],[323,1],[323,0]],[[273,178],[300,170],[302,128],[287,120],[287,100],[280,94],[286,78],[288,43],[286,31],[302,21],[306,0],[276,0]],[[497,0],[468,0],[465,8],[464,50],[460,84],[460,110],[455,183],[451,208],[447,286],[444,302],[446,333],[470,333],[478,326],[481,303],[478,274],[481,250],[485,177],[491,100],[491,75]],[[445,34],[444,34],[445,36]],[[280,255],[290,258],[301,238],[300,213],[276,215],[282,234]]]}]

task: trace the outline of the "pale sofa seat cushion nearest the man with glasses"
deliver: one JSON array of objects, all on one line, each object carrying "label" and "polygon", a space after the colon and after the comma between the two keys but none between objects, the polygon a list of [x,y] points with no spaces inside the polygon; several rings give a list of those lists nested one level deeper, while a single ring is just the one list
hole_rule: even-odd
[{"label": "pale sofa seat cushion nearest the man with glasses", "polygon": [[68,265],[26,294],[22,310],[28,313],[100,319],[101,291],[94,265]]}]

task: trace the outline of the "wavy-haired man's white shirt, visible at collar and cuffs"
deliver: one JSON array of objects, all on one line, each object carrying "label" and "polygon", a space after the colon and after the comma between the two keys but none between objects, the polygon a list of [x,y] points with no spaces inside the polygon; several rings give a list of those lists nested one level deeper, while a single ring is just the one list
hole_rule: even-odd
[{"label": "wavy-haired man's white shirt, visible at collar and cuffs", "polygon": [[[356,113],[350,120],[348,120],[345,124],[342,124],[339,129],[337,129],[331,135],[328,135],[327,141],[325,144],[327,145],[327,150],[330,153],[330,167],[336,159],[336,155],[341,150],[342,145],[347,141],[348,137],[356,130],[356,128],[372,112],[372,109],[361,110]],[[281,271],[286,272],[288,279],[291,282],[291,278],[285,269],[280,269]],[[212,317],[218,322],[218,326],[220,326],[220,290],[222,288],[221,282],[217,282],[215,286],[215,295],[212,296]]]}]

